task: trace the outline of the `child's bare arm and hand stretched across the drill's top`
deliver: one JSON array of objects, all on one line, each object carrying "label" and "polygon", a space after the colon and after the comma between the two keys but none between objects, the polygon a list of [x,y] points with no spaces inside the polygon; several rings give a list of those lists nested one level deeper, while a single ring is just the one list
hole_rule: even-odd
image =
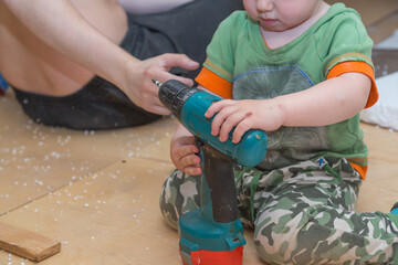
[{"label": "child's bare arm and hand stretched across the drill's top", "polygon": [[[327,126],[357,115],[366,106],[371,78],[362,73],[345,73],[307,89],[272,99],[224,99],[212,104],[207,118],[216,117],[211,134],[220,141],[239,142],[249,129],[272,131],[289,127]],[[375,96],[375,95],[374,95]],[[322,115],[320,115],[322,114]]]}]

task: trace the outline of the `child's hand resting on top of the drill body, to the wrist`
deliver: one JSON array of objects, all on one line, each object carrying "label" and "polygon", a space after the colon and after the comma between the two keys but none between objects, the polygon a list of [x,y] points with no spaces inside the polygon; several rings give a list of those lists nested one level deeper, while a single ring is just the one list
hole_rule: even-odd
[{"label": "child's hand resting on top of the drill body, to the wrist", "polygon": [[205,114],[207,118],[214,115],[211,135],[219,136],[220,141],[226,141],[229,132],[235,127],[232,137],[234,144],[239,142],[249,129],[272,131],[283,125],[283,113],[275,99],[217,102]]}]

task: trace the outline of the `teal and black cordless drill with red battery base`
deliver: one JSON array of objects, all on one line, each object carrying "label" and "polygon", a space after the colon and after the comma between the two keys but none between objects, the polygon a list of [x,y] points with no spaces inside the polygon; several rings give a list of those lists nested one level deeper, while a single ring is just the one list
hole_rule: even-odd
[{"label": "teal and black cordless drill with red battery base", "polygon": [[222,98],[169,80],[159,86],[160,102],[196,137],[201,158],[200,209],[178,220],[179,248],[185,265],[241,265],[243,225],[238,219],[233,163],[254,167],[266,152],[268,137],[262,130],[249,130],[238,144],[232,132],[221,142],[211,135],[212,118],[205,113]]}]

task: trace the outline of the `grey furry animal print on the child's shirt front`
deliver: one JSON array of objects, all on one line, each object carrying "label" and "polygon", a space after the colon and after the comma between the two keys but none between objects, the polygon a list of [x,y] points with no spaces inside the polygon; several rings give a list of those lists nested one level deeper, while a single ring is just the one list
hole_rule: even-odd
[{"label": "grey furry animal print on the child's shirt front", "polygon": [[[296,66],[253,67],[234,78],[233,99],[274,98],[311,86],[313,83],[308,76]],[[326,128],[323,126],[281,127],[268,135],[269,150],[260,167],[269,170],[314,158],[318,152],[327,150],[328,146]]]}]

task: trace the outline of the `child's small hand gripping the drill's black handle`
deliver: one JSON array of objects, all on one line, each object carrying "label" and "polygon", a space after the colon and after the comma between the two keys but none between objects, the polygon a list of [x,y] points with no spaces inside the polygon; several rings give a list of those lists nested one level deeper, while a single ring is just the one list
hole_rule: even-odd
[{"label": "child's small hand gripping the drill's black handle", "polygon": [[191,176],[201,174],[198,152],[195,137],[180,126],[170,141],[170,157],[176,168]]}]

